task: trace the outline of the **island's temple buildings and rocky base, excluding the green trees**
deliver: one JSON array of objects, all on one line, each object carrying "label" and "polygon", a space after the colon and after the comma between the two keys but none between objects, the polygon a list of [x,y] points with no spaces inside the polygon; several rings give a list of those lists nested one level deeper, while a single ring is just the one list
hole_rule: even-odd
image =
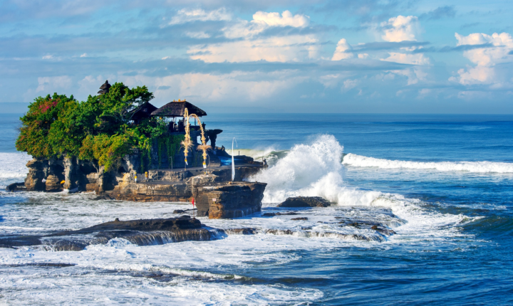
[{"label": "island's temple buildings and rocky base, excluding the green trees", "polygon": [[[109,90],[105,81],[98,95]],[[134,149],[120,160],[117,169],[108,171],[95,160],[66,156],[33,159],[27,164],[25,183],[9,188],[24,185],[27,191],[95,191],[129,201],[195,199],[198,216],[209,218],[235,218],[260,211],[266,184],[248,180],[266,164],[247,156],[232,159],[224,147],[217,147],[222,130],[207,130],[200,122],[207,112],[186,100],[173,100],[160,108],[142,103],[129,115],[132,125],[152,117],[167,122],[167,131],[153,139],[149,157]]]}]

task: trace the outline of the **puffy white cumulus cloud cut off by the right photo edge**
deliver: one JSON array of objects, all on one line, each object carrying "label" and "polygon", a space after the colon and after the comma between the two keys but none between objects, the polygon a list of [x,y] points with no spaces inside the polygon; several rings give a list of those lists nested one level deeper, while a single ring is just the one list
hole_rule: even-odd
[{"label": "puffy white cumulus cloud cut off by the right photo edge", "polygon": [[509,53],[513,51],[513,39],[509,33],[493,33],[491,36],[485,33],[472,33],[462,36],[455,33],[457,46],[483,45],[483,48],[473,48],[463,52],[474,67],[467,65],[457,71],[457,77],[449,80],[459,82],[462,85],[499,83],[497,71],[494,65],[513,61]]}]

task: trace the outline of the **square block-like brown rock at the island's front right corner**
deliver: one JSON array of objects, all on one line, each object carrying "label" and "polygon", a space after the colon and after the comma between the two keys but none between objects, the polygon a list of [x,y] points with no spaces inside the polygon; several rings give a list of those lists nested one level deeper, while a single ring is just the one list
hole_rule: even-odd
[{"label": "square block-like brown rock at the island's front right corner", "polygon": [[195,191],[198,216],[237,218],[260,211],[266,185],[237,181],[199,186]]}]

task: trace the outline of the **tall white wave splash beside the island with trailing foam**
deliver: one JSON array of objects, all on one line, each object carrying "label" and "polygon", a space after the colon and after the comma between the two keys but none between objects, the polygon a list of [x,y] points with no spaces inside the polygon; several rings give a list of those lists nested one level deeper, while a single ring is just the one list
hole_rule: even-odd
[{"label": "tall white wave splash beside the island with trailing foam", "polygon": [[[455,225],[467,220],[463,215],[423,209],[423,202],[400,194],[365,190],[343,182],[343,147],[333,135],[321,135],[311,144],[297,144],[276,164],[253,180],[267,183],[263,202],[279,203],[291,196],[321,196],[338,206],[380,206],[408,221],[401,233],[458,236]],[[445,230],[440,230],[445,228]]]}]

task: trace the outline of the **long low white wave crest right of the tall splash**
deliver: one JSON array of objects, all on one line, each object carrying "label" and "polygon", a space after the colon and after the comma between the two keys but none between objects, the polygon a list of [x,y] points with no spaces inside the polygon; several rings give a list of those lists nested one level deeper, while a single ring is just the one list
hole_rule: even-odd
[{"label": "long low white wave crest right of the tall splash", "polygon": [[343,164],[352,167],[378,167],[381,169],[435,169],[442,172],[513,173],[513,163],[507,162],[409,162],[378,159],[349,153]]}]

